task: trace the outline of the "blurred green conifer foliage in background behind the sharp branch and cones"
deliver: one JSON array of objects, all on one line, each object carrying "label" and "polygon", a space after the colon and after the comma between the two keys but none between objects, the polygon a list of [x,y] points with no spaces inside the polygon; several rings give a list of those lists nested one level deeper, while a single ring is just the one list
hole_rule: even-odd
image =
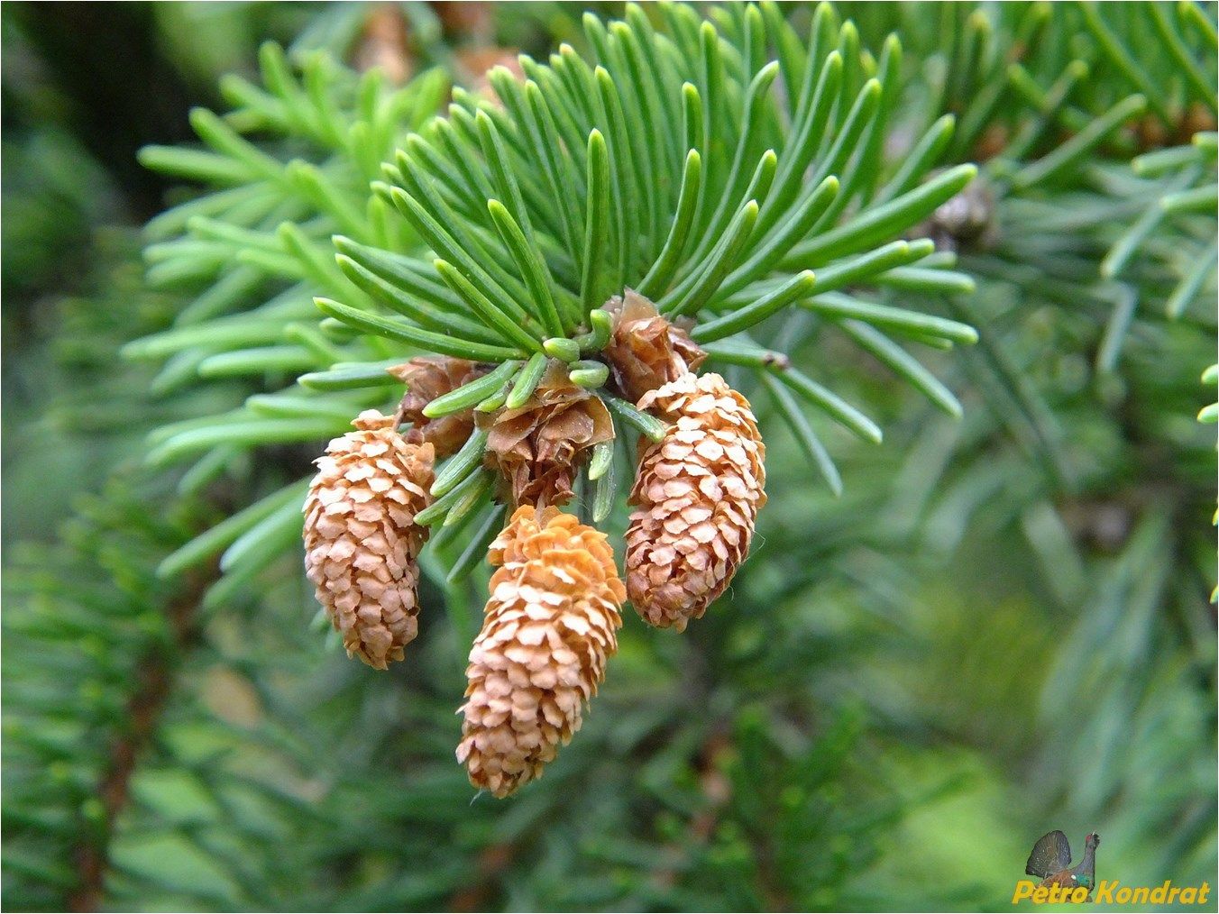
[{"label": "blurred green conifer foliage in background behind the sharp branch and cones", "polygon": [[[484,40],[536,54],[579,40],[573,12],[524,7],[496,10]],[[132,22],[147,37],[116,77],[130,100],[108,110],[115,134],[132,135],[115,149],[182,138],[189,104],[251,73],[265,38],[349,55],[371,9],[132,7],[96,37]],[[403,9],[419,60],[446,66],[461,39],[430,7]],[[1148,207],[1213,184],[1214,156],[1131,165],[1206,151],[1178,129],[1196,87],[1163,43],[1130,40],[1156,15],[1142,5],[1101,26],[1154,77],[1160,129],[1139,115],[1070,145],[1146,89],[1097,40],[1096,9],[841,7],[865,48],[901,34],[907,135],[992,106],[936,163],[983,161],[995,234],[928,229],[978,279],[924,302],[981,331],[928,358],[964,419],[816,321],[786,328],[797,363],[819,360],[884,419],[885,447],[818,425],[842,473],[834,497],[769,399],[735,379],[768,441],[753,556],[684,636],[629,619],[578,739],[495,803],[471,802],[452,758],[485,579],[429,584],[410,662],[377,674],[310,628],[296,553],[208,603],[215,569],[155,575],[312,451],[185,485],[141,466],[149,429],[235,407],[250,384],[157,396],[155,369],[121,360],[185,305],[141,283],[130,228],[165,186],[99,149],[55,28],[5,4],[6,907],[997,909],[1051,829],[1100,831],[1102,879],[1214,886],[1215,450],[1193,418],[1214,400],[1199,381],[1213,269],[1180,296],[1214,260],[1213,201],[1151,219],[1102,271]],[[1213,6],[1164,9],[1213,84]],[[1031,51],[1022,29],[1039,29]],[[1080,88],[1051,105],[1022,74]]]}]

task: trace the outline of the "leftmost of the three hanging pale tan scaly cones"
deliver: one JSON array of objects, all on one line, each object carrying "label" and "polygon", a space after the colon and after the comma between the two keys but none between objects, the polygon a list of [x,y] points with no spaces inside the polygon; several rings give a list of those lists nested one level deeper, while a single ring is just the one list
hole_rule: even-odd
[{"label": "leftmost of the three hanging pale tan scaly cones", "polygon": [[428,529],[435,450],[410,444],[394,420],[360,413],[356,431],[318,457],[305,500],[305,572],[347,654],[385,669],[418,632],[416,559]]}]

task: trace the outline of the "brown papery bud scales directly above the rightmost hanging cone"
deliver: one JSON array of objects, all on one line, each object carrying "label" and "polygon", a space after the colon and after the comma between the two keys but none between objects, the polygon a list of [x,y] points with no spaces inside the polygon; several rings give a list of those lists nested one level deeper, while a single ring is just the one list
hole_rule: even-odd
[{"label": "brown papery bud scales directly above the rightmost hanging cone", "polygon": [[605,356],[614,383],[631,402],[695,370],[707,357],[684,328],[661,317],[656,306],[633,289],[623,297],[612,297],[605,311],[614,318]]}]

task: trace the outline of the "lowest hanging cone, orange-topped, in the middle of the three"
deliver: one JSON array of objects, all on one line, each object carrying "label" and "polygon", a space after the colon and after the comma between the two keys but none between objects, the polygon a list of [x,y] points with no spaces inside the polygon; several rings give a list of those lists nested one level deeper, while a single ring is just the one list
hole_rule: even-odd
[{"label": "lowest hanging cone, orange-topped, in the middle of the three", "polygon": [[457,760],[506,797],[580,729],[617,652],[625,589],[605,534],[549,507],[517,509],[491,544],[491,598],[469,653]]}]

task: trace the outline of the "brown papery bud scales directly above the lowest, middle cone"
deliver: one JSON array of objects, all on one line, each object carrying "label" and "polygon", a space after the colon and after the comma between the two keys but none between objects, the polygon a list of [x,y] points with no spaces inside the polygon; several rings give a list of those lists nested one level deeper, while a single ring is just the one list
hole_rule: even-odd
[{"label": "brown papery bud scales directly above the lowest, middle cone", "polygon": [[583,452],[613,439],[605,403],[572,384],[558,362],[524,406],[478,420],[489,430],[486,461],[508,480],[516,505],[566,502]]}]

